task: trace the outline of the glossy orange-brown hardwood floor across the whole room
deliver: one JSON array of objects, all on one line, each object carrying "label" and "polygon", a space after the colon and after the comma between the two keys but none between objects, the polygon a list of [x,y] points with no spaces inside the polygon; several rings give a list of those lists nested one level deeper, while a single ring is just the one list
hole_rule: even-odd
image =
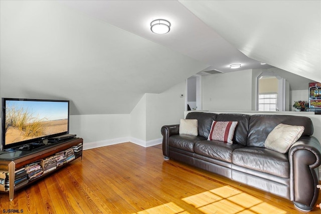
[{"label": "glossy orange-brown hardwood floor across the whole room", "polygon": [[[161,145],[144,148],[133,143],[85,150],[82,160],[16,191],[13,201],[9,194],[0,193],[0,212],[14,211],[304,213],[281,197],[164,160]],[[315,207],[309,213],[321,210]]]}]

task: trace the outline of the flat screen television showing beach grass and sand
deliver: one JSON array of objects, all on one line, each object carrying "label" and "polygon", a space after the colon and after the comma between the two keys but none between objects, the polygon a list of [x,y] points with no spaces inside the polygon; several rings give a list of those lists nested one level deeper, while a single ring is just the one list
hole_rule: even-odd
[{"label": "flat screen television showing beach grass and sand", "polygon": [[69,133],[69,100],[2,98],[2,149]]}]

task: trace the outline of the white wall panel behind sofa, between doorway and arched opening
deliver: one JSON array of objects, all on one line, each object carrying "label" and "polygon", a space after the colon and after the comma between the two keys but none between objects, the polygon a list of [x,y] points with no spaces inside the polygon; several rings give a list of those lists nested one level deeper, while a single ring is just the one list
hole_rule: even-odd
[{"label": "white wall panel behind sofa, between doorway and arched opening", "polygon": [[252,70],[202,77],[203,109],[251,110]]}]

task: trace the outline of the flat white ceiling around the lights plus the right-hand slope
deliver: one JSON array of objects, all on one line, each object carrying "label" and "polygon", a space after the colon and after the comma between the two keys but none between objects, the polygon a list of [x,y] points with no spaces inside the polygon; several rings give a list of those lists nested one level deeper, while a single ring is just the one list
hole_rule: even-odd
[{"label": "flat white ceiling around the lights plus the right-hand slope", "polygon": [[[272,65],[321,81],[320,1],[61,3],[204,62],[209,65],[207,70],[231,72]],[[155,19],[170,21],[170,33],[151,33],[150,22]],[[234,63],[242,67],[230,69]]]}]

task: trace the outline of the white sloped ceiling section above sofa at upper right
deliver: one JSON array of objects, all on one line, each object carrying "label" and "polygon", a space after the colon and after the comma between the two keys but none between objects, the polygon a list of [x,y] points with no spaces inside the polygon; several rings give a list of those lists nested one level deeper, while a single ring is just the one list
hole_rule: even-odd
[{"label": "white sloped ceiling section above sofa at upper right", "polygon": [[180,1],[246,56],[321,80],[321,1]]}]

